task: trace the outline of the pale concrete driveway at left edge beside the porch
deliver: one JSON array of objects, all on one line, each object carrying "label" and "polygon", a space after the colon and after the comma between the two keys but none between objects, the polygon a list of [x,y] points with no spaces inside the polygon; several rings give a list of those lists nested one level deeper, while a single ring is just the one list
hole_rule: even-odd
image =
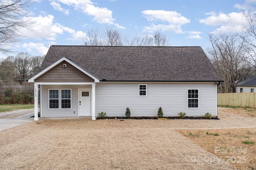
[{"label": "pale concrete driveway at left edge beside the porch", "polygon": [[[0,113],[1,115],[10,115],[15,114],[18,112],[23,112],[24,110],[16,110],[16,111],[8,111],[4,113]],[[27,111],[27,109],[26,109]],[[30,110],[31,111],[31,110]],[[34,117],[31,117],[34,115],[34,112],[27,113],[25,115],[16,117],[16,118],[9,118],[9,119],[0,119],[0,131],[10,129],[12,127],[16,127],[19,125],[23,125],[25,123],[34,121]]]}]

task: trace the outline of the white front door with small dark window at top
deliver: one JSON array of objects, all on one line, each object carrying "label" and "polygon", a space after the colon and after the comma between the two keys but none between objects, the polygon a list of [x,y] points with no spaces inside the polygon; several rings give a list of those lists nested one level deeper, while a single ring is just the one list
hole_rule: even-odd
[{"label": "white front door with small dark window at top", "polygon": [[91,116],[91,90],[79,90],[79,116]]}]

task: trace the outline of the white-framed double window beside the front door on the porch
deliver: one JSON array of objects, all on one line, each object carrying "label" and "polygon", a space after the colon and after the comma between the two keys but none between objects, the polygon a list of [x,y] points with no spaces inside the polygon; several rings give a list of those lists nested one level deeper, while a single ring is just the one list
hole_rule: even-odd
[{"label": "white-framed double window beside the front door on the porch", "polygon": [[71,109],[70,89],[49,89],[49,109],[59,108]]}]

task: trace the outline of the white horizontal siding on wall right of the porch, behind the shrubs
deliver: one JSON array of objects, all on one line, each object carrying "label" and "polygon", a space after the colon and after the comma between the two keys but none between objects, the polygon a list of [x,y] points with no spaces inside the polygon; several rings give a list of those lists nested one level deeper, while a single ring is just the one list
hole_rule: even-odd
[{"label": "white horizontal siding on wall right of the porch, behind the shrubs", "polygon": [[[147,96],[138,95],[138,84],[147,84]],[[199,89],[199,108],[187,108],[187,90]],[[96,85],[96,116],[156,116],[162,107],[164,116],[216,116],[216,84],[210,83],[98,83]]]}]

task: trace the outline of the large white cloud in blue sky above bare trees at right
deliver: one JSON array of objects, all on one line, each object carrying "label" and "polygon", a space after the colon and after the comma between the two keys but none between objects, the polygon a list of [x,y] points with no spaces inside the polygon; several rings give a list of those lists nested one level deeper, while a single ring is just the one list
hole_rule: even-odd
[{"label": "large white cloud in blue sky above bare trees at right", "polygon": [[199,20],[200,23],[210,26],[220,26],[212,33],[239,32],[242,31],[243,25],[246,24],[242,12],[231,12],[229,14],[210,12],[206,13],[206,15],[209,15],[209,17]]}]

